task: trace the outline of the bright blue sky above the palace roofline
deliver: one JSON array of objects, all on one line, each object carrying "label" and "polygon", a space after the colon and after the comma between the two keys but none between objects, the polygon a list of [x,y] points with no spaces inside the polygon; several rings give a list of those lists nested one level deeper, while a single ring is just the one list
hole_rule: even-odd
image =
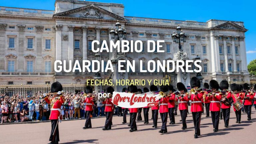
[{"label": "bright blue sky above the palace roofline", "polygon": [[[124,15],[172,20],[209,19],[243,21],[246,37],[247,63],[256,59],[255,1],[197,1],[197,0],[90,0],[124,4]],[[55,0],[0,0],[0,6],[54,10]],[[179,3],[179,5],[177,5]],[[179,11],[180,10],[180,11]],[[175,11],[175,13],[173,13]]]}]

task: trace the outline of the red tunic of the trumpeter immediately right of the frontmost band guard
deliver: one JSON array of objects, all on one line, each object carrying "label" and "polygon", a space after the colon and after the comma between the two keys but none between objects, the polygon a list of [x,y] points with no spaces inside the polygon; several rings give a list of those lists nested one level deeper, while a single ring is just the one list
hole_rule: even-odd
[{"label": "red tunic of the trumpeter immediately right of the frontmost band guard", "polygon": [[215,92],[215,96],[210,97],[210,111],[220,111],[220,100],[222,93],[220,91]]}]

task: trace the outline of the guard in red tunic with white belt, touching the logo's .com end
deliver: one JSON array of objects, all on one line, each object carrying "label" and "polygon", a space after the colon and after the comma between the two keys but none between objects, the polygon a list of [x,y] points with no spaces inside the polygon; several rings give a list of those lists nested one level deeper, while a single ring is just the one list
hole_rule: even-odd
[{"label": "guard in red tunic with white belt, touching the logo's .com end", "polygon": [[[168,91],[168,87],[167,86],[161,86],[160,89],[162,92],[167,92]],[[161,120],[162,120],[162,127],[161,130],[158,131],[160,133],[167,133],[167,127],[166,127],[166,123],[167,123],[167,118],[168,118],[168,100],[169,97],[166,97],[168,95],[163,95],[162,98],[160,98],[160,116],[161,116]],[[174,95],[175,97],[175,95]],[[174,101],[174,100],[173,100]]]}]

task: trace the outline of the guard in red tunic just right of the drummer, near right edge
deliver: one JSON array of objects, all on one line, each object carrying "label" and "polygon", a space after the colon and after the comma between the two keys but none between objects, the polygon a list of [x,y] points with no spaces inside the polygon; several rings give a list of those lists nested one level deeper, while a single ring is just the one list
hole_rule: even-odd
[{"label": "guard in red tunic just right of the drummer, near right edge", "polygon": [[253,93],[249,91],[250,85],[248,83],[243,84],[243,89],[244,110],[247,112],[247,120],[251,120]]}]

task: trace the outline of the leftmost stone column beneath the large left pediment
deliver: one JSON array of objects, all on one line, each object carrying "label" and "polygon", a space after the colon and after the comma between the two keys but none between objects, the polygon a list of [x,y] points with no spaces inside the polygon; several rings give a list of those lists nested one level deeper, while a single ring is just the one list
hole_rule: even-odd
[{"label": "leftmost stone column beneath the large left pediment", "polygon": [[61,58],[61,30],[62,25],[56,25],[55,31],[56,31],[56,60],[62,60]]}]

